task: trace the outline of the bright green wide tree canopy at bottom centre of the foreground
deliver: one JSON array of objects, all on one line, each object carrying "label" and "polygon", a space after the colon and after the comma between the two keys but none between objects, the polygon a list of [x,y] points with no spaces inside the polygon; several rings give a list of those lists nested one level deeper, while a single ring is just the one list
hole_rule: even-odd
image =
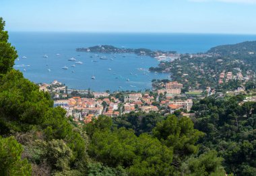
[{"label": "bright green wide tree canopy at bottom centre of the foreground", "polygon": [[106,120],[109,118],[101,117],[91,125],[95,126],[88,148],[92,158],[109,167],[125,167],[129,175],[166,175],[172,171],[172,148],[148,134],[137,137],[125,128],[98,128]]}]

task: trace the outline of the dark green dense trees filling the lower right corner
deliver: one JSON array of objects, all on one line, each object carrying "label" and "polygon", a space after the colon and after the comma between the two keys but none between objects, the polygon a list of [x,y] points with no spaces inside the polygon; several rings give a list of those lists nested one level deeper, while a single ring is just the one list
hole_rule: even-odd
[{"label": "dark green dense trees filling the lower right corner", "polygon": [[195,128],[207,135],[203,150],[217,150],[228,173],[250,175],[255,169],[256,102],[241,105],[244,97],[208,97],[195,103]]}]

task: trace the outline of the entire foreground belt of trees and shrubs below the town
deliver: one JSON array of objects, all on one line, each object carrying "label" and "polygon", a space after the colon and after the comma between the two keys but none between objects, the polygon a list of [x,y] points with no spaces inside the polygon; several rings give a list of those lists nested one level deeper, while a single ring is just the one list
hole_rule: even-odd
[{"label": "entire foreground belt of trees and shrubs below the town", "polygon": [[256,103],[208,97],[193,106],[193,120],[131,112],[74,126],[13,69],[17,52],[4,25],[0,18],[0,175],[255,173]]}]

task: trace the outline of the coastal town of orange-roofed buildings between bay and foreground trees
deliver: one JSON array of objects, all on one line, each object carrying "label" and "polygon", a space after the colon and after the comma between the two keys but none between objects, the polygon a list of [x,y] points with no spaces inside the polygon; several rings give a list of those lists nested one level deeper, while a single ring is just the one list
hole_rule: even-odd
[{"label": "coastal town of orange-roofed buildings between bay and foreground trees", "polygon": [[[229,74],[229,73],[228,73]],[[231,79],[226,76],[226,79]],[[160,87],[160,88],[159,88]],[[118,117],[130,112],[159,112],[163,116],[179,111],[183,116],[195,116],[191,112],[194,99],[205,96],[218,95],[215,89],[207,87],[182,93],[183,84],[177,81],[163,83],[159,81],[158,89],[149,92],[94,92],[90,90],[67,89],[58,81],[51,84],[40,84],[40,91],[49,92],[54,99],[54,106],[63,107],[66,116],[72,117],[74,122],[87,124],[100,115]],[[229,95],[245,93],[245,87],[238,87],[234,91],[227,91]],[[246,101],[255,101],[256,97],[247,97]]]}]

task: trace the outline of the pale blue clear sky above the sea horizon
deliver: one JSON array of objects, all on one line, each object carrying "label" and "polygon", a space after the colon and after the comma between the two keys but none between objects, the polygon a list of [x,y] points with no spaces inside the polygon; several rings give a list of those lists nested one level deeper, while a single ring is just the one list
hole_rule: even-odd
[{"label": "pale blue clear sky above the sea horizon", "polygon": [[11,32],[256,34],[256,0],[0,0]]}]

